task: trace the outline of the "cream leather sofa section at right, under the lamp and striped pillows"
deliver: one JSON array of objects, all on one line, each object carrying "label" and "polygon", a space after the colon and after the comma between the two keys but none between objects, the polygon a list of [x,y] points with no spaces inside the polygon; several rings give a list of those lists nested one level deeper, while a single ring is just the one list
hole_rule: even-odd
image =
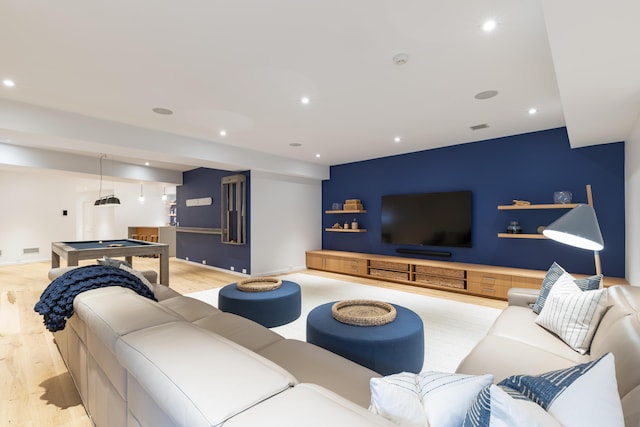
[{"label": "cream leather sofa section at right, under the lamp and striped pillows", "polygon": [[531,305],[538,298],[538,289],[511,289],[508,307],[487,336],[462,360],[457,372],[491,373],[499,381],[511,375],[540,375],[566,369],[612,353],[624,423],[627,427],[640,427],[640,287],[612,286],[606,293],[606,309],[590,349],[581,354],[535,323],[538,315]]}]

